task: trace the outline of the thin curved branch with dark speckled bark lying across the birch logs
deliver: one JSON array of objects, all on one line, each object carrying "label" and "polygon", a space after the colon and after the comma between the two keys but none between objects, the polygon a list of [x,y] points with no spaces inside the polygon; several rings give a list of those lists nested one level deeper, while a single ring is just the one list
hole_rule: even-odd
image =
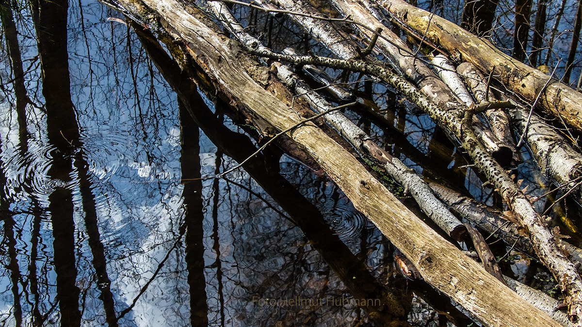
[{"label": "thin curved branch with dark speckled bark lying across the birch logs", "polygon": [[[288,2],[289,0],[285,1]],[[296,7],[293,6],[293,8]],[[556,280],[559,281],[560,286],[562,286],[565,301],[568,304],[570,318],[574,322],[579,321],[579,317],[582,317],[582,279],[572,262],[567,260],[566,255],[558,247],[552,233],[545,225],[542,217],[534,210],[525,194],[513,182],[499,163],[489,155],[480,141],[478,141],[474,130],[469,124],[473,118],[474,109],[468,109],[466,106],[456,106],[454,110],[452,110],[453,108],[447,107],[441,108],[431,101],[430,98],[420,93],[413,84],[400,76],[396,76],[396,74],[393,74],[383,65],[379,65],[375,61],[369,62],[356,59],[342,61],[316,55],[298,57],[279,55],[272,51],[251,50],[257,55],[292,62],[296,65],[313,64],[328,66],[352,70],[354,72],[368,73],[372,76],[379,77],[396,88],[396,90],[402,92],[409,101],[427,113],[444,130],[448,130],[457,137],[462,147],[475,162],[475,166],[487,176],[489,182],[494,184],[503,200],[514,212],[517,221],[527,231],[538,257],[540,257],[545,266],[553,273]]]}]

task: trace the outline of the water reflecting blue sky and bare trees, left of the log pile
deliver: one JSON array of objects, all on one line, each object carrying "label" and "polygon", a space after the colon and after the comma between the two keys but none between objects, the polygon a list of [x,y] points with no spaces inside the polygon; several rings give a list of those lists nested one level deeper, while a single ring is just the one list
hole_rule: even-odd
[{"label": "water reflecting blue sky and bare trees, left of the log pile", "polygon": [[[262,155],[202,182],[254,152],[253,131],[151,35],[66,5],[2,14],[0,324],[407,324],[412,286],[335,185]],[[422,117],[397,126],[421,134],[402,149],[431,139]]]}]

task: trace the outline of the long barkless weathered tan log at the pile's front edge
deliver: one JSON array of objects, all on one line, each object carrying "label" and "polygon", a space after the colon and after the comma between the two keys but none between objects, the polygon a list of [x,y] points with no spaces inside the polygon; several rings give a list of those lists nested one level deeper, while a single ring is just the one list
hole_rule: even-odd
[{"label": "long barkless weathered tan log at the pile's front edge", "polygon": [[[137,11],[135,0],[120,2],[133,8],[132,12]],[[194,60],[205,67],[215,83],[220,84],[232,99],[278,130],[299,123],[294,112],[243,70],[233,54],[237,47],[235,42],[209,29],[176,0],[146,0],[145,4],[149,7],[147,12],[160,15],[167,24],[166,28],[184,40]],[[238,55],[242,53],[238,52]],[[425,280],[462,304],[475,317],[491,326],[558,326],[424,225],[349,152],[313,124],[297,127],[288,136],[313,155],[354,206],[420,268]]]}]

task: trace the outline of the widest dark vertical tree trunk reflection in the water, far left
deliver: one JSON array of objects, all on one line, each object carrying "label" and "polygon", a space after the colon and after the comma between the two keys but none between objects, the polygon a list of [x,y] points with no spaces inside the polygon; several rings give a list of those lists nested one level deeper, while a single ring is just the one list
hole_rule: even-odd
[{"label": "widest dark vertical tree trunk reflection in the water, far left", "polygon": [[[80,326],[79,288],[75,285],[77,268],[74,255],[72,181],[73,141],[79,140],[79,127],[70,96],[69,56],[67,52],[67,9],[62,0],[31,1],[41,59],[42,95],[47,111],[47,133],[54,146],[48,176],[54,181],[50,194],[56,293],[62,326]],[[78,144],[74,144],[78,145]]]}]

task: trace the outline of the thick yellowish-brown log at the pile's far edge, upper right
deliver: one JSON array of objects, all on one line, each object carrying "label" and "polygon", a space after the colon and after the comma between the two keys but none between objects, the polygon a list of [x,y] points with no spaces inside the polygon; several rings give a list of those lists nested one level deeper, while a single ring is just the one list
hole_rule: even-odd
[{"label": "thick yellowish-brown log at the pile's far edge, upper right", "polygon": [[455,61],[471,62],[487,73],[494,72],[497,80],[528,101],[534,101],[541,91],[538,103],[546,112],[582,131],[582,93],[558,80],[550,81],[544,88],[549,76],[510,58],[491,42],[476,37],[446,19],[402,0],[381,0],[381,3],[400,22],[424,35],[437,47],[446,49]]}]

